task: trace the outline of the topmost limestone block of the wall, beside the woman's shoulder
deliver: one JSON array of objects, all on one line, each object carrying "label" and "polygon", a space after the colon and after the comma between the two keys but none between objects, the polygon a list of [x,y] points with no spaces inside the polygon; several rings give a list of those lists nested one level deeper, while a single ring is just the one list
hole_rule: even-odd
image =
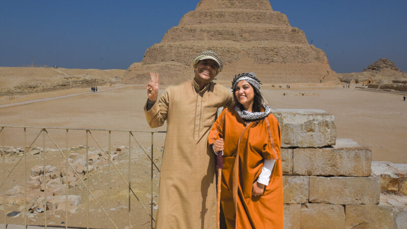
[{"label": "topmost limestone block of the wall, beside the woman's shoulder", "polygon": [[335,145],[335,118],[324,110],[273,110],[281,127],[281,147],[324,147]]}]

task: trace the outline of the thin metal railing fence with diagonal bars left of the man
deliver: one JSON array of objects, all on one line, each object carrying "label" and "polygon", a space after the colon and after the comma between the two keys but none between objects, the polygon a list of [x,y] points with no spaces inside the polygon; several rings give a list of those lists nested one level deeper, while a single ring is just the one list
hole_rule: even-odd
[{"label": "thin metal railing fence with diagonal bars left of the man", "polygon": [[[43,158],[41,160],[43,160],[43,173],[42,173],[42,178],[43,179],[43,184],[44,184],[44,226],[45,228],[47,228],[47,178],[46,178],[46,148],[45,148],[45,140],[47,139],[48,142],[52,142],[53,147],[56,148],[57,152],[59,152],[58,154],[61,155],[63,157],[63,159],[65,160],[65,169],[66,169],[66,180],[65,180],[65,185],[66,185],[66,189],[65,189],[65,195],[66,195],[66,200],[65,200],[65,227],[68,228],[70,227],[69,225],[69,216],[68,216],[68,190],[69,190],[69,186],[68,186],[68,169],[73,170],[76,178],[80,181],[80,183],[85,186],[86,189],[86,228],[90,228],[90,220],[89,220],[89,196],[92,196],[92,198],[94,199],[94,201],[97,203],[97,205],[99,206],[100,209],[102,209],[103,211],[103,216],[104,218],[106,218],[107,222],[107,227],[110,228],[111,226],[114,228],[119,228],[117,222],[115,222],[115,219],[113,217],[111,217],[111,213],[110,213],[110,189],[111,189],[111,184],[110,184],[110,170],[112,169],[113,171],[115,170],[118,174],[121,180],[121,182],[123,182],[127,189],[128,189],[128,221],[129,221],[129,225],[128,228],[132,227],[132,222],[130,219],[130,212],[131,212],[131,197],[133,196],[133,198],[135,197],[135,199],[137,200],[137,206],[141,206],[143,211],[145,211],[146,213],[148,213],[148,215],[150,216],[150,225],[151,228],[153,228],[153,224],[155,222],[155,219],[153,217],[153,177],[154,177],[154,170],[157,170],[158,173],[160,171],[159,166],[156,165],[156,163],[154,162],[154,134],[155,133],[165,133],[165,131],[140,131],[140,130],[122,130],[122,129],[88,129],[88,128],[64,128],[64,127],[37,127],[37,126],[10,126],[10,125],[0,125],[1,129],[0,129],[0,136],[2,138],[1,142],[1,147],[2,147],[2,151],[1,151],[1,156],[2,156],[2,170],[3,170],[3,176],[2,176],[2,180],[1,180],[1,184],[0,184],[0,188],[3,186],[3,198],[4,198],[4,228],[6,228],[6,225],[8,224],[7,222],[7,198],[6,198],[6,183],[7,183],[7,179],[9,178],[9,176],[11,175],[11,173],[16,169],[18,164],[23,163],[24,164],[24,225],[25,228],[27,227],[27,215],[25,214],[27,212],[27,154],[33,150],[34,148],[34,143],[37,141],[37,139],[41,140],[42,139],[42,152],[43,152]],[[12,168],[10,169],[10,171],[8,171],[8,173],[6,174],[6,170],[5,170],[5,157],[6,157],[6,150],[5,150],[5,132],[6,130],[9,129],[20,129],[21,131],[23,131],[23,155],[21,157],[19,157],[17,159],[17,161],[15,162],[15,164],[12,166]],[[30,145],[28,145],[27,147],[27,130],[31,130],[31,132],[35,132],[35,138],[31,142]],[[62,148],[61,146],[58,146],[56,141],[54,140],[54,138],[52,138],[51,134],[49,133],[50,130],[61,130],[61,131],[65,131],[65,147]],[[85,140],[86,140],[86,145],[84,146],[85,149],[85,155],[86,155],[86,173],[84,176],[80,176],[77,171],[75,171],[75,168],[73,167],[73,164],[71,162],[69,162],[69,134],[72,131],[81,131],[81,132],[85,132]],[[103,147],[100,144],[100,139],[98,140],[95,137],[94,132],[104,132],[106,134],[108,134],[108,147],[107,150],[103,149]],[[111,134],[114,132],[121,132],[121,133],[128,133],[128,159],[129,159],[129,165],[128,165],[128,171],[127,171],[127,175],[128,175],[128,179],[125,179],[125,176],[123,175],[123,173],[120,171],[120,169],[118,168],[118,166],[113,163],[113,159],[111,157]],[[148,152],[148,150],[146,150],[146,147],[141,146],[139,140],[137,140],[136,135],[137,134],[151,134],[151,151]],[[34,136],[34,135],[33,135]],[[95,196],[95,194],[92,192],[92,190],[90,189],[90,184],[89,184],[89,140],[93,139],[93,141],[96,143],[96,146],[99,148],[99,150],[103,153],[103,155],[108,159],[108,203],[107,203],[107,208],[103,208],[102,204],[106,204],[106,203],[100,203],[100,201],[98,200],[98,198]],[[21,139],[22,142],[22,139]],[[136,143],[136,147],[138,147],[139,149],[142,150],[143,154],[145,154],[148,158],[148,160],[151,162],[150,163],[150,167],[151,167],[151,171],[150,171],[150,175],[151,175],[151,190],[150,190],[150,194],[151,194],[151,202],[150,202],[150,208],[144,206],[141,201],[139,196],[137,196],[136,191],[134,190],[134,187],[131,186],[131,156],[132,156],[132,142]],[[72,149],[72,148],[71,148]],[[127,149],[127,148],[126,148]],[[16,169],[17,170],[17,169]],[[22,179],[22,178],[21,178]],[[22,182],[22,181],[21,181]],[[115,184],[116,185],[116,184]],[[21,222],[22,224],[22,222]],[[147,224],[148,225],[148,224]],[[83,225],[84,227],[84,225]]]}]

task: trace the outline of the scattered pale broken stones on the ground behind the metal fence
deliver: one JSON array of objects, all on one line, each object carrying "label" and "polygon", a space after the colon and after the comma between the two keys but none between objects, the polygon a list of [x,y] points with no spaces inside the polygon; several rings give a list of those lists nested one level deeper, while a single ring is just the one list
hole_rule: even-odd
[{"label": "scattered pale broken stones on the ground behind the metal fence", "polygon": [[[119,153],[125,147],[116,148],[111,152],[110,160],[113,162],[118,159]],[[31,167],[29,181],[26,183],[26,198],[27,198],[27,218],[36,222],[35,216],[41,212],[37,212],[37,208],[45,209],[44,193],[46,191],[47,211],[51,211],[55,217],[60,217],[65,214],[67,207],[69,213],[78,212],[78,206],[81,204],[80,195],[68,195],[68,206],[66,206],[66,183],[68,189],[72,189],[81,184],[81,180],[86,178],[86,155],[80,154],[80,151],[85,149],[79,145],[77,148],[69,148],[68,162],[73,169],[68,166],[66,169],[66,160],[61,161],[56,166],[45,166],[45,182],[44,182],[44,165],[39,164]],[[65,152],[65,148],[61,149]],[[89,174],[108,165],[107,156],[100,150],[89,149],[88,153],[88,171]],[[45,149],[46,153],[57,151]],[[22,157],[24,149],[22,147],[6,147],[6,157]],[[33,147],[33,150],[28,151],[30,155],[38,155],[43,152],[40,147]],[[117,163],[117,162],[115,162]],[[79,179],[78,179],[79,178]],[[46,183],[46,185],[45,185]],[[6,203],[8,207],[18,207],[19,211],[24,211],[25,187],[16,185],[12,189],[6,191]],[[4,205],[4,197],[0,196],[0,205]]]}]

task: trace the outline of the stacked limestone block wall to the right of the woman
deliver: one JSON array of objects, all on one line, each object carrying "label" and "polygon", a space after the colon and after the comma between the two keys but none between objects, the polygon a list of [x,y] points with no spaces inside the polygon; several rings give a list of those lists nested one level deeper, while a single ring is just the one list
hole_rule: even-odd
[{"label": "stacked limestone block wall to the right of the woman", "polygon": [[334,117],[323,110],[273,113],[282,132],[285,228],[407,228],[407,164],[372,162],[369,149],[336,138]]}]

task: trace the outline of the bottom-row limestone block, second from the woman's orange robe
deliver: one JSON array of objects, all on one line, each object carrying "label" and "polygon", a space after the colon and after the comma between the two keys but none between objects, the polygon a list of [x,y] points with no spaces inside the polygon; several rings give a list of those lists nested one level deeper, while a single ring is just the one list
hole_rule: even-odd
[{"label": "bottom-row limestone block, second from the woman's orange robe", "polygon": [[345,208],[342,205],[301,205],[301,228],[344,228]]}]

